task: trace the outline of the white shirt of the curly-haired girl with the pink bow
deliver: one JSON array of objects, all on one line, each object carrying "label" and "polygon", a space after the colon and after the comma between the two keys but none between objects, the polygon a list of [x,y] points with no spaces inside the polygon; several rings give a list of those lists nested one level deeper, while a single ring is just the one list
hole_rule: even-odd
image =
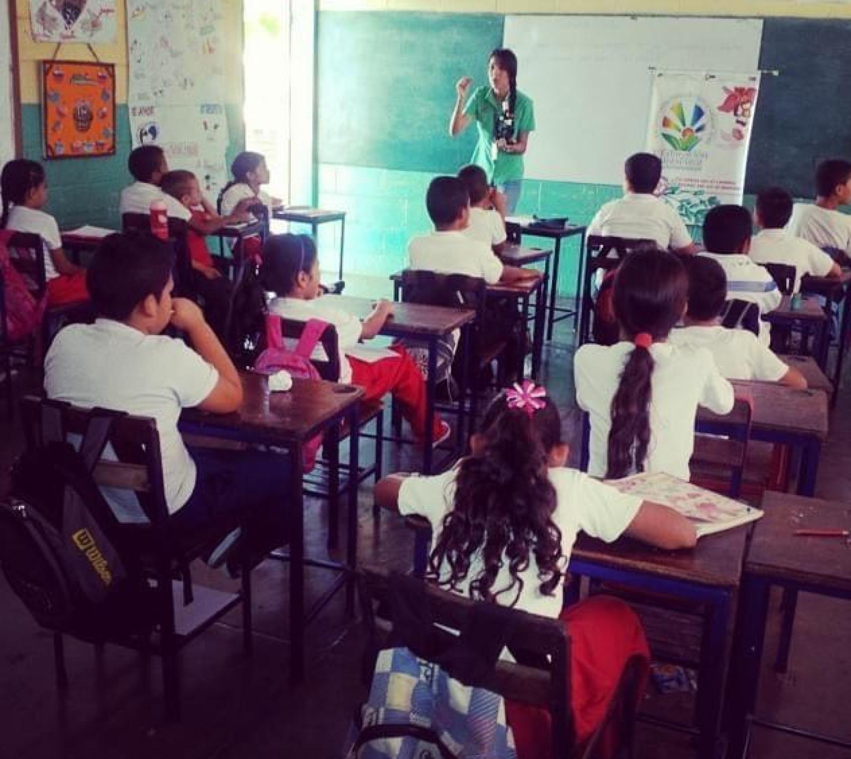
[{"label": "white shirt of the curly-haired girl with the pink bow", "polygon": [[[406,477],[399,488],[399,513],[404,516],[418,514],[431,522],[432,545],[437,543],[443,530],[443,517],[454,507],[455,478],[458,467],[436,477]],[[570,551],[574,547],[576,535],[580,530],[607,543],[618,539],[635,518],[641,499],[634,495],[621,494],[614,488],[597,482],[574,469],[551,469],[550,482],[556,489],[556,511],[552,521],[562,531],[561,568],[568,565]],[[508,559],[503,558],[499,574],[494,580],[492,590],[499,592],[511,586],[511,573]],[[481,554],[471,557],[470,570],[459,584],[460,595],[470,595],[471,581],[482,573]],[[440,579],[449,576],[445,563],[440,568]],[[534,554],[529,555],[528,567],[518,572],[523,579],[523,590],[517,597],[517,586],[496,596],[496,602],[502,606],[513,606],[524,612],[556,618],[562,611],[562,588],[558,586],[551,596],[540,592],[538,563]],[[517,597],[517,603],[512,603]]]}]

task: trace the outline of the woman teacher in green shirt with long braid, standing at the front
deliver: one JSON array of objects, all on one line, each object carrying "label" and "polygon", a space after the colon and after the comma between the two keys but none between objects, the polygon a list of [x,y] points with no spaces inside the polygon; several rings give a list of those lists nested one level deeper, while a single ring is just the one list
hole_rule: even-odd
[{"label": "woman teacher in green shirt with long braid, standing at the front", "polygon": [[458,80],[449,134],[454,137],[476,122],[472,163],[481,166],[490,183],[505,194],[508,213],[513,214],[523,188],[523,153],[534,130],[534,106],[517,89],[517,55],[511,50],[500,48],[490,54],[488,82],[489,87],[477,87],[467,100],[472,79]]}]

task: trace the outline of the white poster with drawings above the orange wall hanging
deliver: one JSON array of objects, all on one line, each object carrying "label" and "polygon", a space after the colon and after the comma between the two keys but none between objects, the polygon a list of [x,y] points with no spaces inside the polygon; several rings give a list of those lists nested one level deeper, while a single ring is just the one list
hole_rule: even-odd
[{"label": "white poster with drawings above the orange wall hanging", "polygon": [[114,43],[115,0],[30,0],[37,43]]}]

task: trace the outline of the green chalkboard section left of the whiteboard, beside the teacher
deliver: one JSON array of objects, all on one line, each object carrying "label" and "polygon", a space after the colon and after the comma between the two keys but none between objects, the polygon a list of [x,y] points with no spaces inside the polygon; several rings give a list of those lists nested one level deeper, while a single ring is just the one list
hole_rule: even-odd
[{"label": "green chalkboard section left of the whiteboard, beside the teacher", "polygon": [[448,135],[454,85],[487,83],[503,16],[322,11],[317,26],[319,163],[451,172],[474,129]]}]

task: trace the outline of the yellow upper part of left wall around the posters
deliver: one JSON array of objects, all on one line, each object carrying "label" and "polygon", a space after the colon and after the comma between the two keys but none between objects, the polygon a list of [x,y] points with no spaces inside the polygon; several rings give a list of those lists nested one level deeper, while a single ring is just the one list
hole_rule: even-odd
[{"label": "yellow upper part of left wall around the posters", "polygon": [[[226,103],[243,101],[243,51],[242,51],[242,0],[223,0],[226,30],[226,86],[222,100]],[[117,4],[117,36],[109,45],[94,45],[94,51],[104,63],[115,64],[116,101],[127,102],[127,22],[125,3]],[[34,43],[30,30],[29,0],[17,0],[16,12],[18,33],[18,56],[20,61],[20,100],[22,103],[41,101],[41,85],[38,81],[38,64],[54,56],[55,43]],[[62,45],[57,57],[60,60],[93,60],[84,44]]]}]

